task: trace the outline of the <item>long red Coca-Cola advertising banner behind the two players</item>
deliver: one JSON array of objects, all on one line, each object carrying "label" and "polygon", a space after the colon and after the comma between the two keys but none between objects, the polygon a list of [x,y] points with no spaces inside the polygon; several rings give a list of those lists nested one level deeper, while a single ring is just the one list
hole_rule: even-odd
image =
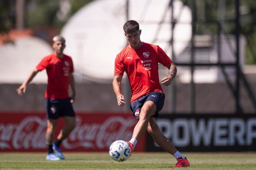
[{"label": "long red Coca-Cola advertising banner behind the two players", "polygon": [[[137,120],[132,113],[77,113],[77,126],[61,144],[63,151],[109,151],[115,140],[129,141]],[[55,138],[64,126],[58,121]],[[1,151],[47,151],[45,113],[0,113]],[[143,135],[135,151],[146,150]]]}]

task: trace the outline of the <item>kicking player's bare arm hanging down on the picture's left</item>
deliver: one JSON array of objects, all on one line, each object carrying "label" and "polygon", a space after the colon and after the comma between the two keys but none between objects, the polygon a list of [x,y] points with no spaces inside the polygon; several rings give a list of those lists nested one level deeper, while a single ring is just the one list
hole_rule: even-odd
[{"label": "kicking player's bare arm hanging down on the picture's left", "polygon": [[117,97],[118,106],[124,106],[125,105],[125,98],[121,94],[121,81],[122,81],[122,75],[115,75],[114,76],[113,90],[114,90],[115,95]]}]

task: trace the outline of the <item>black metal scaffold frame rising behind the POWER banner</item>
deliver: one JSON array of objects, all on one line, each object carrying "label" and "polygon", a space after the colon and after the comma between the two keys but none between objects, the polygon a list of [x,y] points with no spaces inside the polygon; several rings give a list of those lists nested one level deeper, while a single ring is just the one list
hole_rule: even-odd
[{"label": "black metal scaffold frame rising behind the POWER banner", "polygon": [[[187,2],[187,1],[186,1]],[[225,81],[228,84],[232,94],[234,95],[235,98],[235,113],[236,114],[242,114],[244,113],[240,104],[240,82],[239,80],[241,80],[245,86],[246,92],[248,93],[250,100],[253,104],[253,107],[255,108],[255,113],[256,113],[256,99],[255,96],[253,95],[253,91],[250,88],[250,85],[248,83],[248,81],[246,80],[239,64],[239,37],[240,37],[240,13],[239,13],[239,5],[240,5],[240,0],[235,0],[235,10],[236,10],[236,18],[235,18],[235,24],[236,24],[236,32],[235,32],[235,36],[236,36],[236,50],[231,49],[232,47],[230,46],[230,50],[231,52],[234,51],[234,55],[236,57],[236,62],[235,63],[221,63],[221,62],[217,62],[217,63],[195,63],[195,54],[194,54],[194,42],[193,42],[193,37],[195,35],[195,25],[196,25],[196,15],[195,15],[195,0],[190,0],[190,7],[192,10],[192,37],[191,37],[191,62],[190,63],[179,63],[175,61],[175,56],[173,53],[173,60],[174,63],[177,66],[189,66],[191,68],[191,96],[190,96],[190,104],[191,104],[191,113],[195,113],[196,112],[196,108],[195,108],[195,83],[193,81],[193,74],[194,74],[194,69],[195,66],[219,66],[221,68],[221,71],[224,75]],[[173,11],[173,0],[170,0],[170,7],[172,8]],[[173,13],[173,12],[172,12]],[[173,18],[173,14],[172,14],[172,32],[175,26],[176,20]],[[220,48],[220,33],[223,32],[224,27],[223,25],[221,25],[220,22],[217,22],[218,24],[218,58],[220,59],[220,55],[221,55],[221,48]],[[173,35],[173,34],[172,34]],[[230,41],[228,38],[228,35],[225,34],[225,37],[227,37],[227,41]],[[248,38],[247,38],[248,39]],[[171,47],[173,48],[173,37],[171,38],[170,41]],[[229,43],[231,44],[231,43]],[[231,81],[228,78],[227,73],[225,72],[225,67],[234,67],[236,69],[236,81],[235,81],[235,87],[232,86]],[[175,88],[175,86],[174,86]],[[175,90],[173,90],[175,91]],[[175,104],[174,104],[175,105]],[[175,111],[174,111],[175,113]]]}]

